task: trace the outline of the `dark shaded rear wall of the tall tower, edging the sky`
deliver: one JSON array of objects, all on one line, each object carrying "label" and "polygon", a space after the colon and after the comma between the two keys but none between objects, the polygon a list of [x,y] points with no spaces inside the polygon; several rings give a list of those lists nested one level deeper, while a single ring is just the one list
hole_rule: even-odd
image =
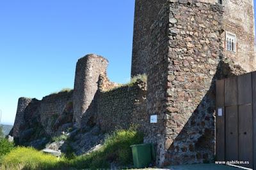
[{"label": "dark shaded rear wall of the tall tower, edging the sky", "polygon": [[[150,55],[150,26],[158,19],[157,14],[166,0],[136,0],[132,46],[131,75],[147,73]],[[154,4],[154,5],[152,5]]]}]

